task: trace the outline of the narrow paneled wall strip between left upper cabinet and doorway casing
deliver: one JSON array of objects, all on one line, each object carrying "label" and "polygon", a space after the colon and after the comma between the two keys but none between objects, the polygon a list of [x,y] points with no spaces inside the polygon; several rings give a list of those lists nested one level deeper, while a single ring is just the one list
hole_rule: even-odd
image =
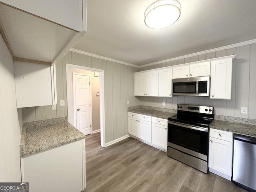
[{"label": "narrow paneled wall strip between left upper cabinet and doorway casing", "polygon": [[64,106],[60,106],[60,100],[64,100],[64,90],[63,90],[63,69],[62,60],[58,61],[56,64],[56,85],[57,85],[57,104],[56,112],[57,117],[65,116]]}]

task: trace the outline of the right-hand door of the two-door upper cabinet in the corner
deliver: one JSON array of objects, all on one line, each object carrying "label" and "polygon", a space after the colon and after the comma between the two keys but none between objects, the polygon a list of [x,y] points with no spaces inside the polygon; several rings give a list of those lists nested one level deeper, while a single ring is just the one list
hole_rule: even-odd
[{"label": "right-hand door of the two-door upper cabinet in the corner", "polygon": [[158,70],[146,72],[145,94],[146,96],[158,96]]}]

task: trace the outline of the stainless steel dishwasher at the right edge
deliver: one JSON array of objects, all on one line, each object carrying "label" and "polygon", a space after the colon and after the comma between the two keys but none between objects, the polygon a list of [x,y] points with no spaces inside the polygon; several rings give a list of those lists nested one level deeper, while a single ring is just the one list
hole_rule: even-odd
[{"label": "stainless steel dishwasher at the right edge", "polygon": [[233,183],[256,192],[256,138],[234,134]]}]

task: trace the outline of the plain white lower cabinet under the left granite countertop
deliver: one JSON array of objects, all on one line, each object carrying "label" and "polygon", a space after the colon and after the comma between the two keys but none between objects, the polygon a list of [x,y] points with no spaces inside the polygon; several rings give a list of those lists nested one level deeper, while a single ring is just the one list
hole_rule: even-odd
[{"label": "plain white lower cabinet under the left granite countertop", "polygon": [[85,140],[20,158],[22,182],[30,192],[80,192],[85,188]]}]

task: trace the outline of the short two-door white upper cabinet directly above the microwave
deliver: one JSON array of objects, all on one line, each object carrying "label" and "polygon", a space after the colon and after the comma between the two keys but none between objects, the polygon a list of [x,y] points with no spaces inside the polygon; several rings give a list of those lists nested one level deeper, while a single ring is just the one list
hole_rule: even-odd
[{"label": "short two-door white upper cabinet directly above the microwave", "polygon": [[172,78],[187,78],[210,76],[211,62],[196,62],[192,64],[182,64],[172,69]]}]

